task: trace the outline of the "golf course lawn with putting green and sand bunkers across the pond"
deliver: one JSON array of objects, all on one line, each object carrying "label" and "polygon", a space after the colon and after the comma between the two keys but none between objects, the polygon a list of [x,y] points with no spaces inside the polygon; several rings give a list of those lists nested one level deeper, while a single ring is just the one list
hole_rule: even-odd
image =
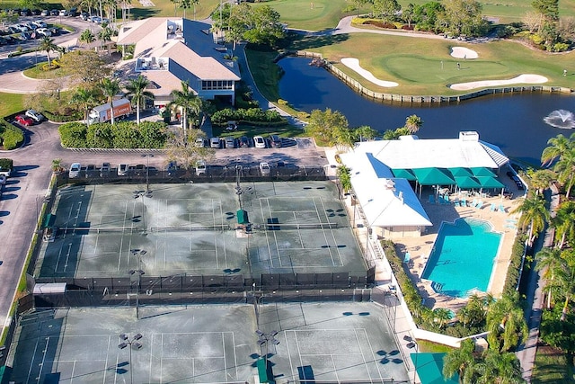
[{"label": "golf course lawn with putting green and sand bunkers across the pond", "polygon": [[[323,41],[316,41],[323,39]],[[528,49],[512,41],[465,44],[455,40],[430,40],[402,36],[353,33],[335,37],[307,38],[297,41],[294,49],[319,52],[343,72],[376,92],[390,94],[453,95],[448,85],[485,79],[509,79],[521,74],[542,75],[546,85],[575,88],[575,53],[551,55]],[[454,46],[473,49],[477,59],[450,56]],[[377,86],[340,63],[341,58],[358,58],[359,65],[379,79],[394,81],[397,87]],[[458,70],[456,63],[461,69]],[[443,66],[442,66],[443,63]],[[562,76],[568,68],[570,76]]]}]

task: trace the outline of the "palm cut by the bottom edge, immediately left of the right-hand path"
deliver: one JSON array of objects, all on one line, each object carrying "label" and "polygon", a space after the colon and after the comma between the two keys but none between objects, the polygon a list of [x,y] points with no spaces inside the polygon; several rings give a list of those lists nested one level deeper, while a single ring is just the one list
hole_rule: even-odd
[{"label": "palm cut by the bottom edge, immediately left of the right-hand path", "polygon": [[477,384],[519,384],[525,380],[521,377],[521,364],[515,353],[499,353],[487,350],[482,362],[475,364],[475,383]]}]

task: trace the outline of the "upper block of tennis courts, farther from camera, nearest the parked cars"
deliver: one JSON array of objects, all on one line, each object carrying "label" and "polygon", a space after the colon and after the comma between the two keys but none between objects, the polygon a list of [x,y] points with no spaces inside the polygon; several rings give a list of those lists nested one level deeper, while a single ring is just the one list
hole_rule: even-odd
[{"label": "upper block of tennis courts, farther from camera, nearest the parked cars", "polygon": [[[330,182],[76,185],[61,189],[39,277],[365,272]],[[250,234],[236,230],[247,212]],[[141,252],[145,251],[145,252]]]}]

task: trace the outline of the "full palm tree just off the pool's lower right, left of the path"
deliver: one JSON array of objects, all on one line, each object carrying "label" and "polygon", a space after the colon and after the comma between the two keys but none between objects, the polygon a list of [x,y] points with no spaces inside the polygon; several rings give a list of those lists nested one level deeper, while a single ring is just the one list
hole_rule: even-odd
[{"label": "full palm tree just off the pool's lower right, left of the path", "polygon": [[519,305],[519,294],[503,297],[487,308],[487,341],[490,348],[507,352],[522,343],[527,336],[527,324]]}]

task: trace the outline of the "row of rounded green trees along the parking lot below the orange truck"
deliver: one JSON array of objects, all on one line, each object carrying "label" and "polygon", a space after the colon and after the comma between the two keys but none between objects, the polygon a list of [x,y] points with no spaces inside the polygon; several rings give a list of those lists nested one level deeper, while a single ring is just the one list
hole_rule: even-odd
[{"label": "row of rounded green trees along the parking lot below the orange truck", "polygon": [[63,147],[72,148],[162,148],[167,138],[164,122],[120,121],[111,125],[99,122],[86,126],[80,122],[68,122],[60,126]]}]

